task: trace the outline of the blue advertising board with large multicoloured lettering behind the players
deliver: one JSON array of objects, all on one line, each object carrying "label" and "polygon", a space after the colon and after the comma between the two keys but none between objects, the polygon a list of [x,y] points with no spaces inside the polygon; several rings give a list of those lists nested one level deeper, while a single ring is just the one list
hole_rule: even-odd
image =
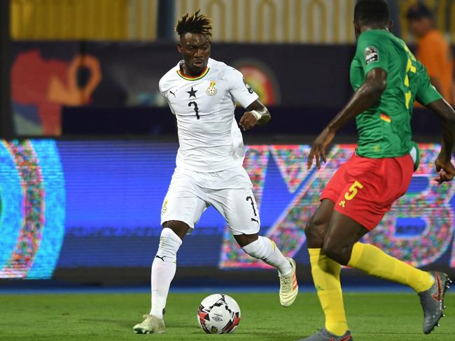
[{"label": "blue advertising board with large multicoloured lettering behind the players", "polygon": [[[0,277],[50,278],[55,268],[149,267],[176,143],[151,140],[13,140],[0,145]],[[354,145],[334,145],[321,170],[308,145],[249,145],[261,233],[308,263],[304,226],[321,189]],[[415,266],[455,268],[454,187],[433,181],[439,145],[421,145],[407,194],[365,237]],[[209,208],[179,251],[179,266],[263,268],[237,247]]]}]

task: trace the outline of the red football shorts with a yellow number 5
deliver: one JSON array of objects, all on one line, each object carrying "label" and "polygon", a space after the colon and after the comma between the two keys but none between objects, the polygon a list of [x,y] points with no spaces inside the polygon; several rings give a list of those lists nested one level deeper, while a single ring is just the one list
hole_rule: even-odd
[{"label": "red football shorts with a yellow number 5", "polygon": [[368,230],[381,222],[395,200],[406,193],[414,173],[412,157],[369,159],[356,154],[338,168],[322,192],[335,210]]}]

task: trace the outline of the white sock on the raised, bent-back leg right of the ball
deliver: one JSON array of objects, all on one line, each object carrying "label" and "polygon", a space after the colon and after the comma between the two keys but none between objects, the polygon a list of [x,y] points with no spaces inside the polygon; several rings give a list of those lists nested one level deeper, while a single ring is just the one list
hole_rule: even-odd
[{"label": "white sock on the raised, bent-back leg right of the ball", "polygon": [[262,237],[262,235],[259,236],[258,240],[242,247],[242,249],[250,256],[262,259],[262,261],[270,266],[274,266],[281,276],[289,275],[293,270],[289,261],[281,254],[281,251],[276,247],[273,240]]}]

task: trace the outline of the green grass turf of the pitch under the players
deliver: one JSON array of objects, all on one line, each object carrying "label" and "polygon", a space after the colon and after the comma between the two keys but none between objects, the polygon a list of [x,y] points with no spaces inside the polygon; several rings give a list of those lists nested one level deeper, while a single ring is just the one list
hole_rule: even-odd
[{"label": "green grass turf of the pitch under the players", "polygon": [[[167,333],[134,335],[148,310],[147,294],[0,295],[0,340],[297,340],[323,325],[316,293],[302,293],[282,308],[273,293],[232,293],[241,323],[230,335],[207,335],[196,310],[208,293],[174,293],[167,304]],[[455,295],[446,296],[447,317],[431,335],[421,333],[421,308],[412,293],[346,293],[354,340],[455,340]]]}]

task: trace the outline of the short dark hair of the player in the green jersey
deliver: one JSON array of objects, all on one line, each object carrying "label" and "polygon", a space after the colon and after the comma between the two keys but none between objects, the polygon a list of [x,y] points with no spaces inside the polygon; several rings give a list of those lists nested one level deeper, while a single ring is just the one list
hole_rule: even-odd
[{"label": "short dark hair of the player in the green jersey", "polygon": [[387,24],[390,22],[388,5],[384,0],[359,0],[354,8],[354,22]]}]

